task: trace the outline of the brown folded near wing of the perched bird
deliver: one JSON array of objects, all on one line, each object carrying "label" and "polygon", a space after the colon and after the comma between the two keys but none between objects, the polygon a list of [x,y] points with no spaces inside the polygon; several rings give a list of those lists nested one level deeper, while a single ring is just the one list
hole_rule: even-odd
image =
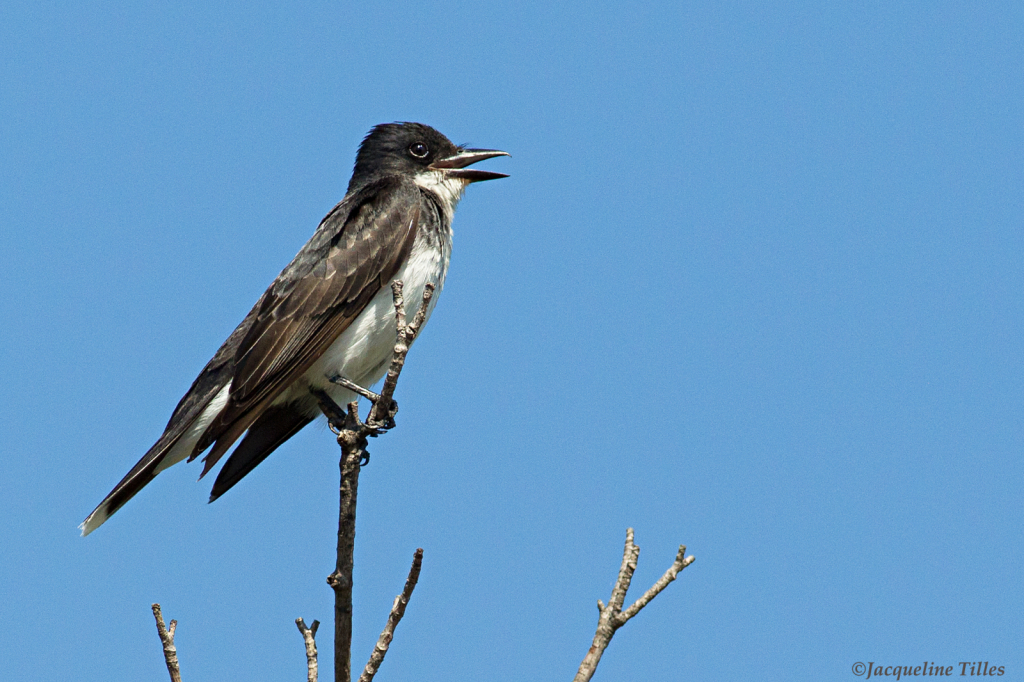
[{"label": "brown folded near wing of the perched bird", "polygon": [[204,474],[391,281],[412,249],[420,202],[399,179],[357,190],[270,285],[236,350],[227,403],[193,453],[213,444]]}]

